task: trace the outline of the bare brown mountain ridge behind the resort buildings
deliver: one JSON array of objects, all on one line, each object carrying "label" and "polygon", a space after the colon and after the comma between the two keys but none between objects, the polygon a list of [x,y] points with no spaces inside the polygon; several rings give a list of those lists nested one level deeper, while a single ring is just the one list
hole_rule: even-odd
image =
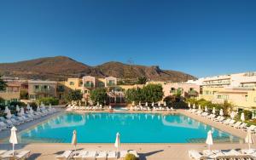
[{"label": "bare brown mountain ridge behind the resort buildings", "polygon": [[65,56],[46,57],[14,63],[0,64],[4,76],[28,79],[65,80],[67,77],[148,77],[151,80],[181,82],[195,77],[181,71],[161,70],[159,66],[126,65],[107,62],[99,66],[88,66]]}]

